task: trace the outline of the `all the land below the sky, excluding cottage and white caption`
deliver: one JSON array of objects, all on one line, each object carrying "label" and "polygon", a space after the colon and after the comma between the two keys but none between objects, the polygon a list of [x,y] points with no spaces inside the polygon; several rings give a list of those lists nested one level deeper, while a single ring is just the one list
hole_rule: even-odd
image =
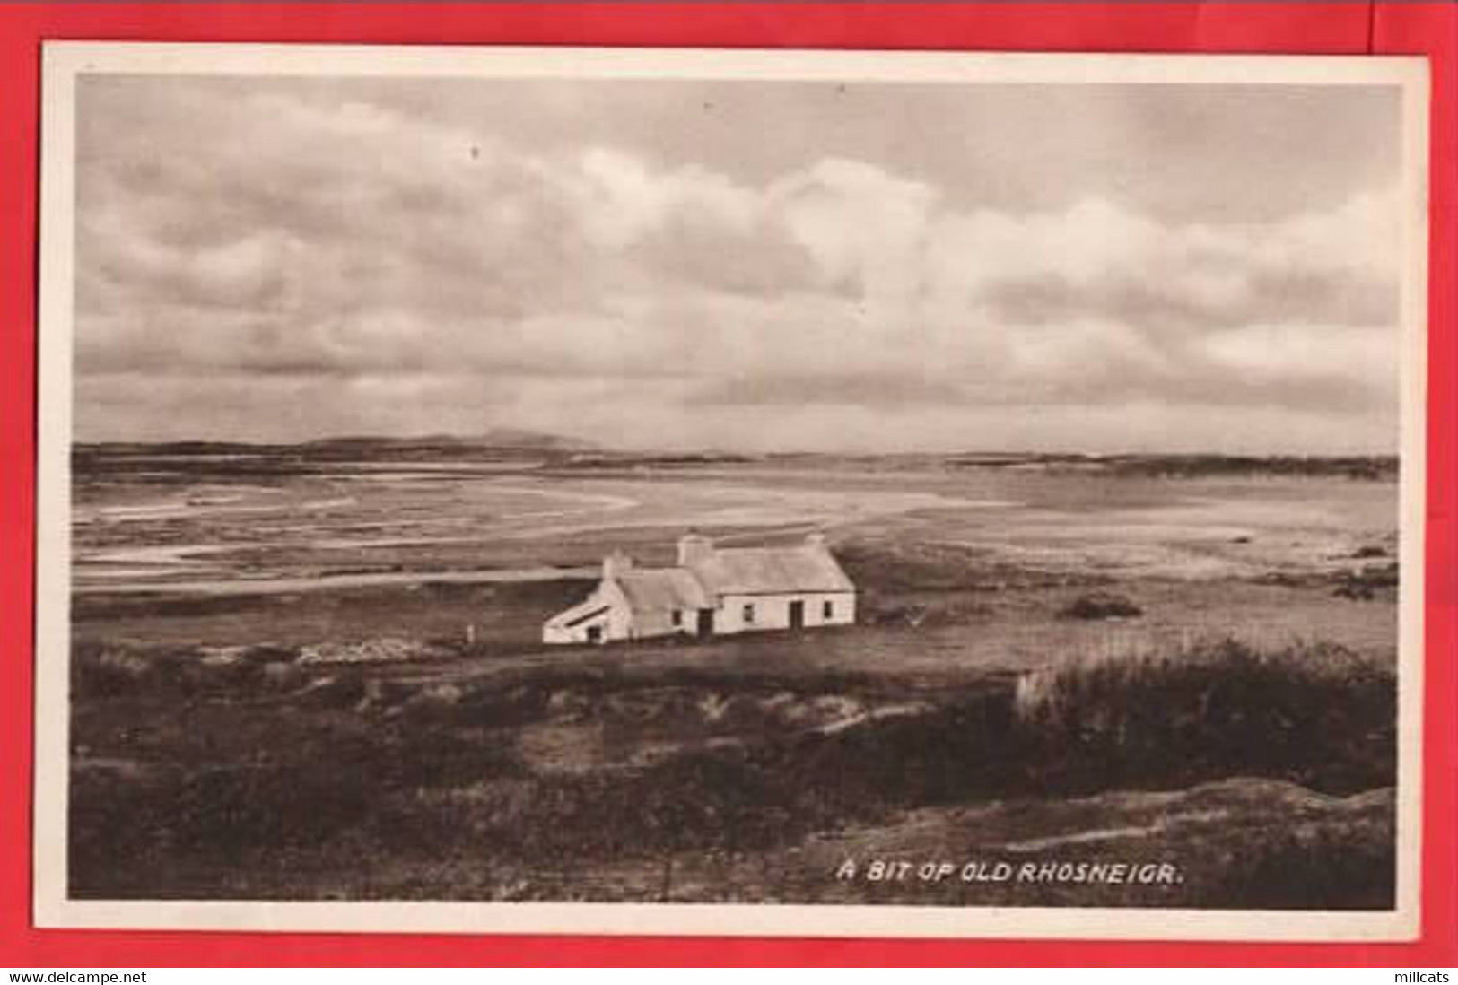
[{"label": "all the land below the sky, excluding cottage and white caption", "polygon": [[[561,439],[73,455],[70,892],[1385,908],[1385,458]],[[544,647],[625,549],[824,530],[854,627]],[[1159,863],[1159,884],[837,879]]]}]

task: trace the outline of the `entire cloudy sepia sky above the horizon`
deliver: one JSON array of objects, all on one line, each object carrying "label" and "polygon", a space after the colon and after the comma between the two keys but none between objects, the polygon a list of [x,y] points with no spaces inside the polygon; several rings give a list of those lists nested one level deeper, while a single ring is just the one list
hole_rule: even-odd
[{"label": "entire cloudy sepia sky above the horizon", "polygon": [[80,440],[1395,447],[1398,92],[83,77]]}]

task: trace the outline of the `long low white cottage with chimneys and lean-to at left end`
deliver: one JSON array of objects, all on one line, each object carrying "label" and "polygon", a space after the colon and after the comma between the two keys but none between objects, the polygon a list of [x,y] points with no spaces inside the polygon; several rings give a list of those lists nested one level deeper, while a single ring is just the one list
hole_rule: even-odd
[{"label": "long low white cottage with chimneys and lean-to at left end", "polygon": [[716,548],[690,533],[679,539],[672,568],[639,568],[623,552],[605,558],[602,581],[586,602],[542,625],[542,643],[714,637],[854,621],[856,586],[824,535],[777,548]]}]

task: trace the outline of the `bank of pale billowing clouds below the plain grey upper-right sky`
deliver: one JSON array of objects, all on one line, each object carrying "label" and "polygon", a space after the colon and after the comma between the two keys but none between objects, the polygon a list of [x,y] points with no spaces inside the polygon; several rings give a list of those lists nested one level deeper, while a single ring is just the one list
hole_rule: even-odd
[{"label": "bank of pale billowing clouds below the plain grey upper-right sky", "polygon": [[873,144],[754,173],[364,95],[83,85],[83,437],[1395,434],[1389,176],[1260,221],[1105,194],[1007,208]]}]

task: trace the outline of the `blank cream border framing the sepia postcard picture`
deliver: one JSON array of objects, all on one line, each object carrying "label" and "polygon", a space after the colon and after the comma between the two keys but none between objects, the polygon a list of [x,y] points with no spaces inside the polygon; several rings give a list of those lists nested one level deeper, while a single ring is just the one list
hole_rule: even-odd
[{"label": "blank cream border framing the sepia postcard picture", "polygon": [[[1422,883],[1427,121],[1423,58],[1088,55],[684,48],[47,42],[42,58],[34,921],[45,928],[1404,941]],[[76,79],[370,76],[755,79],[904,83],[1391,85],[1403,89],[1398,835],[1392,911],[1194,911],[903,905],[214,902],[67,898],[71,323]]]}]

